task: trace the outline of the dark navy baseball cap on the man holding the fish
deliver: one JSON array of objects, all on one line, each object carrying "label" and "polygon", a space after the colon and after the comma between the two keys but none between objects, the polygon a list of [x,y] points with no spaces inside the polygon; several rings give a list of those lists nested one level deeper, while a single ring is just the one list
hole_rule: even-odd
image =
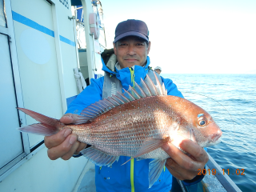
[{"label": "dark navy baseball cap on the man holding the fish", "polygon": [[115,28],[114,42],[127,36],[137,36],[149,42],[149,30],[147,29],[146,23],[135,19],[119,22]]}]

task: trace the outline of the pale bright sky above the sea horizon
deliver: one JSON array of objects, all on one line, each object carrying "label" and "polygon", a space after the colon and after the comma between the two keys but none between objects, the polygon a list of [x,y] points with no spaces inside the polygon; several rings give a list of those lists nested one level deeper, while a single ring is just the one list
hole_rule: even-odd
[{"label": "pale bright sky above the sea horizon", "polygon": [[107,48],[118,22],[146,22],[164,74],[256,74],[255,0],[101,0]]}]

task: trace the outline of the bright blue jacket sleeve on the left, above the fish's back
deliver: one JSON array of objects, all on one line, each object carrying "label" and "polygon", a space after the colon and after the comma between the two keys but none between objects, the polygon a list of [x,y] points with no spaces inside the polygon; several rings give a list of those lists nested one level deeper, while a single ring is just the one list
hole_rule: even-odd
[{"label": "bright blue jacket sleeve on the left, above the fish's back", "polygon": [[86,106],[90,106],[90,104],[102,99],[104,77],[98,79],[92,78],[90,81],[90,86],[86,86],[86,89],[82,90],[82,92],[78,94],[78,97],[70,103],[66,114],[80,114]]}]

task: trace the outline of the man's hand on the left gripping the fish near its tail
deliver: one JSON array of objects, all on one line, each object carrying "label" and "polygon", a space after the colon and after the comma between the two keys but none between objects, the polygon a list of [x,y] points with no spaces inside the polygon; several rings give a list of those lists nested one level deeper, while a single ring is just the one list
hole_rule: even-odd
[{"label": "man's hand on the left gripping the fish near its tail", "polygon": [[[64,114],[60,121],[64,124],[74,123],[78,114]],[[48,157],[51,160],[62,158],[70,159],[73,154],[78,154],[80,150],[86,147],[86,143],[78,142],[78,136],[71,134],[71,129],[64,129],[51,136],[45,137],[45,145],[48,148]]]}]

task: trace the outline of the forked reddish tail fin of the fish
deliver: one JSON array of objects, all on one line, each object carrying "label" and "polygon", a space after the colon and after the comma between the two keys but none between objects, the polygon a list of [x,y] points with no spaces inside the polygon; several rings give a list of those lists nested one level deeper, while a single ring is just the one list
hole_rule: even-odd
[{"label": "forked reddish tail fin of the fish", "polygon": [[29,126],[19,127],[18,130],[21,132],[26,132],[30,134],[40,134],[43,136],[50,136],[53,134],[57,134],[58,131],[65,126],[58,119],[49,118],[43,114],[38,114],[33,110],[26,110],[20,107],[18,107],[17,109],[22,110],[25,114],[30,115],[30,117],[40,122],[40,123],[35,123]]}]

